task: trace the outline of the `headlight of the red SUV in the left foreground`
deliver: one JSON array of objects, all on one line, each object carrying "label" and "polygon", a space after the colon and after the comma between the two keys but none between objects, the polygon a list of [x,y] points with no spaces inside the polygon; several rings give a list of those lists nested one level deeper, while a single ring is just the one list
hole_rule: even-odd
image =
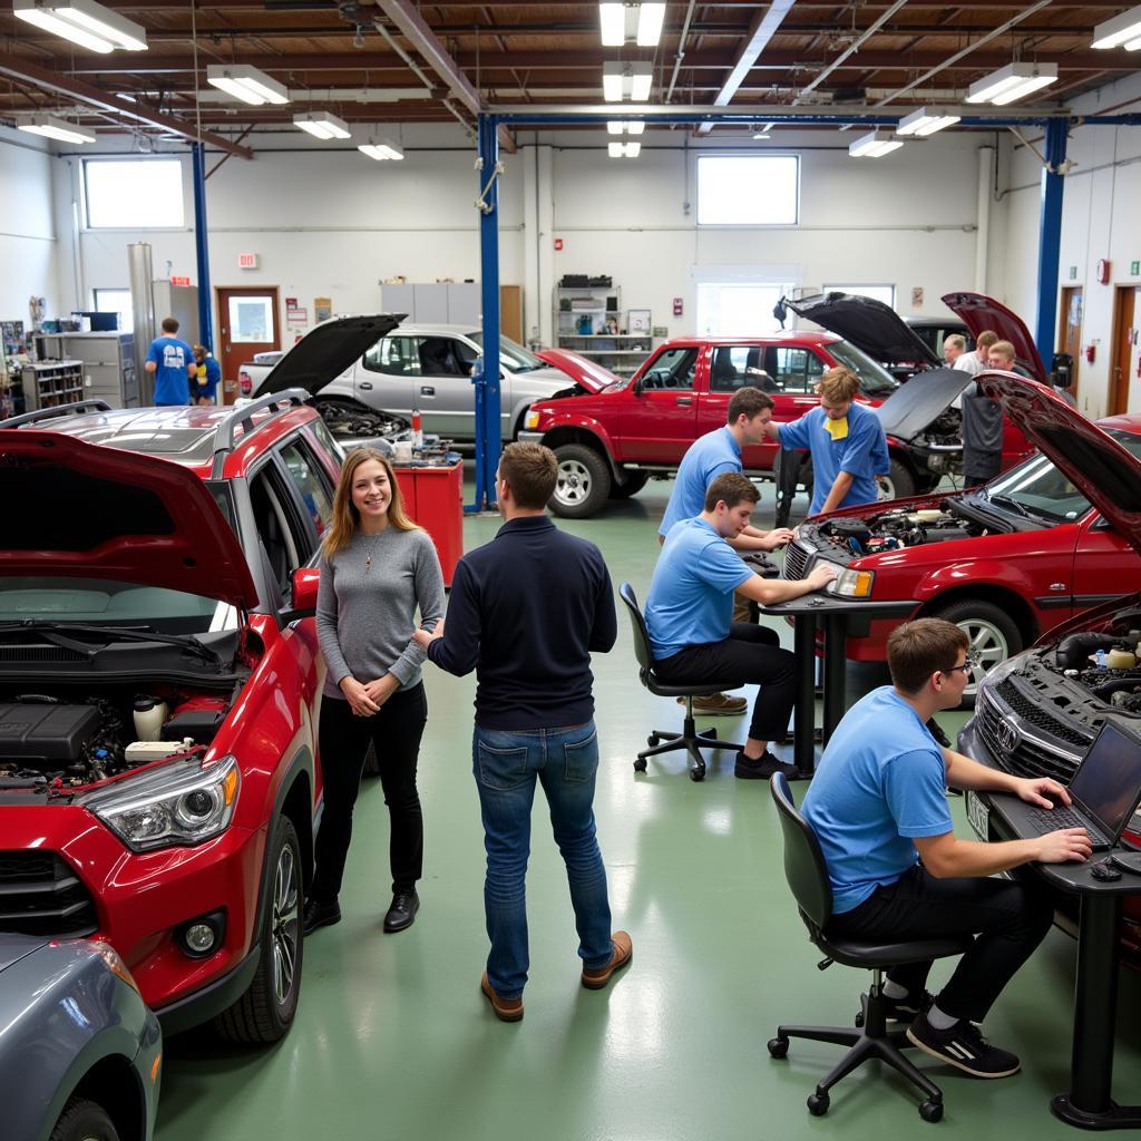
[{"label": "headlight of the red SUV in the left foreground", "polygon": [[83,804],[132,851],[188,848],[229,826],[241,783],[235,758],[195,759],[128,778]]}]

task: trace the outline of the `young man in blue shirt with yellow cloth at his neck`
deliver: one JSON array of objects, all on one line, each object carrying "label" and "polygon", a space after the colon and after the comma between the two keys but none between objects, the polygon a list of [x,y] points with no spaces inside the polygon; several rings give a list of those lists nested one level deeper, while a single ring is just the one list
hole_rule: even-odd
[{"label": "young man in blue shirt with yellow cloth at his neck", "polygon": [[799,420],[769,424],[768,435],[782,447],[812,453],[812,504],[809,515],[874,503],[876,476],[891,470],[880,418],[856,404],[859,378],[850,369],[830,369],[816,386],[820,406]]}]

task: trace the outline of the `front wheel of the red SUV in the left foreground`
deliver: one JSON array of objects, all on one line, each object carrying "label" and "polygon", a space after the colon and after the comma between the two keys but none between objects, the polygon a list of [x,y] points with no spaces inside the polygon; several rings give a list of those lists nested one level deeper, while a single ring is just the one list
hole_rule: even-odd
[{"label": "front wheel of the red SUV in the left foreground", "polygon": [[224,1038],[242,1045],[282,1038],[293,1023],[301,993],[301,843],[286,816],[277,817],[270,830],[266,875],[269,897],[257,937],[258,969],[245,994],[215,1019]]}]

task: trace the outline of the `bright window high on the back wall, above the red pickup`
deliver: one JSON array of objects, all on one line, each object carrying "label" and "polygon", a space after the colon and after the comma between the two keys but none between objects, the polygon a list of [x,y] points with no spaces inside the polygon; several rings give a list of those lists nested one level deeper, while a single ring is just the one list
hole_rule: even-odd
[{"label": "bright window high on the back wall, above the red pickup", "polygon": [[785,154],[698,155],[698,226],[795,226],[800,160]]}]

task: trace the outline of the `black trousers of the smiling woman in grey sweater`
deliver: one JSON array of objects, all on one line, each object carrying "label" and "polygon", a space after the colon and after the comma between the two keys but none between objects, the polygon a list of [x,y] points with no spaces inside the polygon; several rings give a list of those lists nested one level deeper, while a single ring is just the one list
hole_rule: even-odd
[{"label": "black trousers of the smiling woman in grey sweater", "polygon": [[353,839],[353,806],[361,791],[361,774],[372,742],[380,763],[380,783],[388,806],[388,859],[393,892],[411,891],[423,865],[423,818],[416,792],[416,759],[428,720],[422,683],[397,689],[372,717],[356,717],[347,701],[325,697],[321,703],[321,770],[325,779],[325,808],[317,833],[317,867],[311,897],[332,903],[341,890],[345,860]]}]

